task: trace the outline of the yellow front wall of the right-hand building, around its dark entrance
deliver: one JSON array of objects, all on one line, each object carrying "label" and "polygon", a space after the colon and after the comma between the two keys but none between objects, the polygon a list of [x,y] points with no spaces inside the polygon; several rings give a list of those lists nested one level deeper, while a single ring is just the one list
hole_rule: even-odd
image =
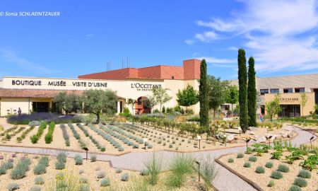
[{"label": "yellow front wall of the right-hand building, around its dark entrance", "polygon": [[[310,112],[314,110],[314,93],[306,92],[307,103],[303,108],[304,115],[310,115]],[[275,93],[266,93],[264,95],[265,103],[271,102],[275,98],[277,94]],[[280,105],[300,105],[302,93],[280,93],[279,96],[281,98]],[[265,110],[265,114],[266,114]],[[302,107],[300,105],[300,115],[302,115]]]}]

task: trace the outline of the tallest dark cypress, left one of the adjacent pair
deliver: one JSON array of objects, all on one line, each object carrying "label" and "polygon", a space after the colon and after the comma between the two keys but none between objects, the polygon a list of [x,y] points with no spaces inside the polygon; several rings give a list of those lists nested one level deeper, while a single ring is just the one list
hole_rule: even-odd
[{"label": "tallest dark cypress, left one of the adjacent pair", "polygon": [[245,50],[238,50],[238,81],[239,81],[239,105],[240,105],[240,127],[245,133],[248,128],[247,116],[247,69]]}]

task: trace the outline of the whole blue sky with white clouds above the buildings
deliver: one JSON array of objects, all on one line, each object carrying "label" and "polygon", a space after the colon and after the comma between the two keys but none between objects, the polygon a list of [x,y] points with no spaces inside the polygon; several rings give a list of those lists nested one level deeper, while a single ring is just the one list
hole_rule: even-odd
[{"label": "whole blue sky with white clouds above the buildings", "polygon": [[[239,48],[254,57],[259,77],[315,74],[317,6],[312,0],[1,0],[0,79],[77,78],[106,71],[107,62],[120,69],[127,57],[135,68],[206,59],[208,74],[237,79]],[[60,15],[8,16],[33,11]]]}]

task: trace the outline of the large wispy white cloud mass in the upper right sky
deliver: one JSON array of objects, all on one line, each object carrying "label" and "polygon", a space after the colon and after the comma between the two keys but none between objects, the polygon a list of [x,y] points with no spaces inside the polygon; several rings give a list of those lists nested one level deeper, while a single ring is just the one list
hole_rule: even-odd
[{"label": "large wispy white cloud mass in the upper right sky", "polygon": [[258,72],[318,69],[316,1],[242,3],[245,10],[230,19],[213,18],[197,25],[211,28],[214,36],[243,37],[242,46],[247,54],[252,53]]}]

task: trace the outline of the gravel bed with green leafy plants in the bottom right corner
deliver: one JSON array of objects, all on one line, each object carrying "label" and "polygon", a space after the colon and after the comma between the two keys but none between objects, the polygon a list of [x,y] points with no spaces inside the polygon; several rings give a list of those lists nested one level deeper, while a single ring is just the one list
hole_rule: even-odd
[{"label": "gravel bed with green leafy plants in the bottom right corner", "polygon": [[262,190],[317,190],[318,150],[293,147],[275,141],[271,147],[253,144],[247,151],[217,159],[223,167],[239,174]]}]

